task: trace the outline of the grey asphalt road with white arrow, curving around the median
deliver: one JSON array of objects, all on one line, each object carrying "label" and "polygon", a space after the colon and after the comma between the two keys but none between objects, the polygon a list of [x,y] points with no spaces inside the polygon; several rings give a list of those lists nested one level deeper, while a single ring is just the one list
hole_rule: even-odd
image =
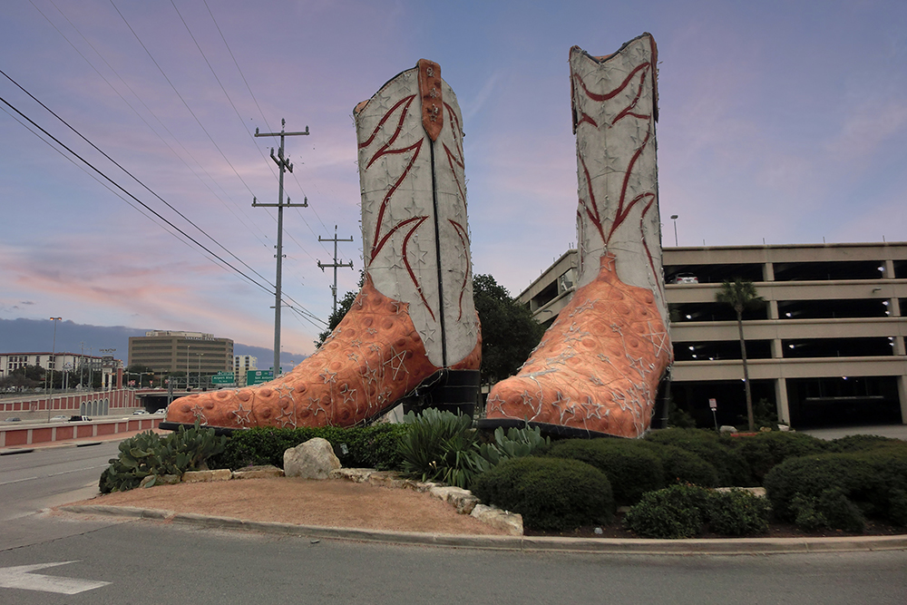
[{"label": "grey asphalt road with white arrow, curving around the median", "polygon": [[27,514],[94,493],[115,448],[0,457],[0,603],[907,602],[904,551],[664,557],[473,551]]}]

